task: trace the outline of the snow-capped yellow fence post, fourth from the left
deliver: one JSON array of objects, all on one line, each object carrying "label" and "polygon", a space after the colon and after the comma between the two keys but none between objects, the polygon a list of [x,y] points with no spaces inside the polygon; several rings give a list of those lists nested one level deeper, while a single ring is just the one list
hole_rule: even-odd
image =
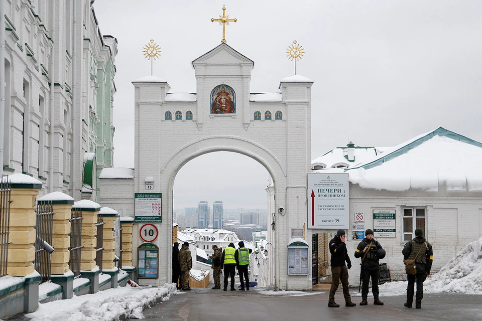
[{"label": "snow-capped yellow fence post, fourth from the left", "polygon": [[114,222],[119,217],[119,213],[110,207],[102,207],[99,216],[104,221],[103,225],[103,246],[104,253],[102,254],[102,273],[110,275],[110,287],[116,288],[118,286],[117,279],[119,269],[115,267],[115,237],[114,237]]}]

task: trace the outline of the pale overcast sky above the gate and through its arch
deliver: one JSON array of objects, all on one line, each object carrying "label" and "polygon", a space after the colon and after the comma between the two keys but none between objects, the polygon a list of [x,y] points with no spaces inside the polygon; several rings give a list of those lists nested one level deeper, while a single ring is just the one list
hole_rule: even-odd
[{"label": "pale overcast sky above the gate and through its arch", "polygon": [[[191,61],[219,45],[222,28],[210,19],[223,4],[238,20],[226,26],[227,44],[255,62],[252,92],[278,91],[293,74],[286,48],[296,39],[305,49],[297,74],[314,81],[312,158],[348,140],[391,146],[439,126],[482,141],[480,0],[96,0],[100,31],[118,40],[116,167],[134,167],[131,82],[151,72],[143,47],[151,38],[160,45],[154,75],[171,92],[194,93]],[[177,175],[174,207],[222,200],[263,209],[268,178],[247,156],[203,155]]]}]

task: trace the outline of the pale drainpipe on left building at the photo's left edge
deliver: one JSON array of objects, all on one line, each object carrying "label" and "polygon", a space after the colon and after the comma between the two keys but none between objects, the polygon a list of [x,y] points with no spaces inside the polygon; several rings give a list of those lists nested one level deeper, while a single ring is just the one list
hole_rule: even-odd
[{"label": "pale drainpipe on left building at the photo's left edge", "polygon": [[5,134],[5,4],[0,3],[0,178],[4,175]]}]

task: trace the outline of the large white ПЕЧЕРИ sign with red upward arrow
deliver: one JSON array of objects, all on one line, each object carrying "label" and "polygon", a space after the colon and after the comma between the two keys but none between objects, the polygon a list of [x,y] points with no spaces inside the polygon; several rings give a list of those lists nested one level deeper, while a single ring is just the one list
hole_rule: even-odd
[{"label": "large white \u041f\u0415\u0427\u0415\u0420\u0418 sign with red upward arrow", "polygon": [[349,227],[348,173],[308,174],[308,228]]}]

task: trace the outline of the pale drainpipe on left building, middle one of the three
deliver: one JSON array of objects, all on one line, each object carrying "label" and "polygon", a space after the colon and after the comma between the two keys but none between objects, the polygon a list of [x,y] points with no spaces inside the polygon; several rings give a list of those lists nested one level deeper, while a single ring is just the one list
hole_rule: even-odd
[{"label": "pale drainpipe on left building, middle one of the three", "polygon": [[50,155],[49,155],[49,193],[54,191],[54,76],[55,76],[55,0],[51,0],[52,50],[50,52]]}]

